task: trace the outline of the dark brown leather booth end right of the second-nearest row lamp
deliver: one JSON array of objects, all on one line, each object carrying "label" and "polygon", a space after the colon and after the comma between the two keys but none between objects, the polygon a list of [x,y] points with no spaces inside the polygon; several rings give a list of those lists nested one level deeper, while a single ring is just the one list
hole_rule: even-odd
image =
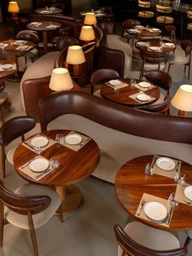
[{"label": "dark brown leather booth end right of the second-nearest row lamp", "polygon": [[111,68],[124,77],[124,52],[98,46],[95,50],[94,69]]}]

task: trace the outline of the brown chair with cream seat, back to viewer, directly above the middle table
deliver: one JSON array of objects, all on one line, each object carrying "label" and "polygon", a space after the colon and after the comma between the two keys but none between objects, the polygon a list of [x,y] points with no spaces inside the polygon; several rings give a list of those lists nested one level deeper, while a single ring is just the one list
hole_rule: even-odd
[{"label": "brown chair with cream seat, back to viewer, directly above the middle table", "polygon": [[140,51],[142,57],[142,70],[139,79],[142,80],[143,74],[148,70],[164,70],[165,61],[168,54],[163,51]]}]

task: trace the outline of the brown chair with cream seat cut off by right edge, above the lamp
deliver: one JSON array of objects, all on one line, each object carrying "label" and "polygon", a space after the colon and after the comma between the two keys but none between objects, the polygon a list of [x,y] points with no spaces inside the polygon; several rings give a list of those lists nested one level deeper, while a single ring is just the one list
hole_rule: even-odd
[{"label": "brown chair with cream seat cut off by right edge, above the lamp", "polygon": [[[190,79],[190,64],[191,64],[191,51],[192,51],[192,42],[190,40],[182,40],[181,48],[185,52],[185,56],[182,55],[168,55],[168,73],[171,65],[173,64],[184,64],[185,70],[188,66],[188,79]],[[185,72],[184,70],[184,72]]]}]

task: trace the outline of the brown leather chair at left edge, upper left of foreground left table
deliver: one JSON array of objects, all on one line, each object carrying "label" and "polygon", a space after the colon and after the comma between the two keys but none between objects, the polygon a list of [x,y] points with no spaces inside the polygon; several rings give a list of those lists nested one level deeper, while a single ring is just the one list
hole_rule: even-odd
[{"label": "brown leather chair at left edge, upper left of foreground left table", "polygon": [[[10,120],[4,122],[0,129],[0,145],[2,147],[2,174],[6,176],[6,158],[13,165],[13,155],[18,144],[14,148],[11,148],[7,154],[5,148],[14,139],[21,137],[24,140],[24,134],[29,130],[32,130],[36,126],[36,121],[33,117],[13,117]],[[8,131],[8,132],[7,132]]]}]

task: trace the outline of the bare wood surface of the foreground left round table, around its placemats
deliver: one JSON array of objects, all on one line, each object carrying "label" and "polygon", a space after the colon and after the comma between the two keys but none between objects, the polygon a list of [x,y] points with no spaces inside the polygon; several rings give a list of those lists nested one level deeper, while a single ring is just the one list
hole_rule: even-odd
[{"label": "bare wood surface of the foreground left round table, around its placemats", "polygon": [[[41,134],[55,140],[56,134],[62,133],[64,136],[69,132],[70,130],[46,130]],[[19,170],[20,166],[36,156],[37,154],[35,152],[20,144],[14,155],[14,165],[17,172],[24,179],[34,183],[63,186],[76,183],[89,176],[98,165],[100,150],[98,144],[95,143],[93,139],[90,139],[89,142],[82,146],[78,151],[64,147],[59,143],[54,143],[45,151],[41,152],[41,156],[46,157],[48,160],[50,160],[50,157],[58,156],[60,165],[53,172],[46,174],[45,177],[42,177],[38,181],[30,178],[27,174],[24,174],[23,171]]]}]

